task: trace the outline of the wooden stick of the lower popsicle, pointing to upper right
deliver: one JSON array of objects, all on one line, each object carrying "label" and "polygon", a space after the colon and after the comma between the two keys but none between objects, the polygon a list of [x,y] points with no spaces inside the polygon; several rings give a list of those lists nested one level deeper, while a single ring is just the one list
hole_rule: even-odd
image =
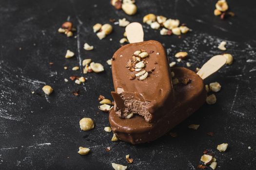
[{"label": "wooden stick of the lower popsicle, pointing to upper right", "polygon": [[223,55],[215,55],[210,60],[208,60],[202,68],[197,72],[203,80],[215,73],[219,68],[221,68],[227,62],[226,57]]}]

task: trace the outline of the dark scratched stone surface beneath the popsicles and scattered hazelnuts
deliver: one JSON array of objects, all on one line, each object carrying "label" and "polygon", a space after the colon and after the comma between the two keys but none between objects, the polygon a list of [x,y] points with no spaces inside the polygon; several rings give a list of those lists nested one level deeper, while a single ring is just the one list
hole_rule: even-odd
[{"label": "dark scratched stone surface beneath the popsicles and scattered hazelnuts", "polygon": [[[129,169],[194,170],[205,149],[215,153],[217,170],[256,169],[256,3],[228,0],[236,17],[226,20],[213,15],[215,3],[138,0],[138,14],[131,17],[116,11],[108,0],[0,0],[0,169],[111,170],[111,162],[128,165],[125,155],[130,154],[134,163]],[[92,26],[107,23],[109,18],[141,22],[148,13],[178,18],[193,30],[179,39],[160,36],[145,25],[145,40],[162,42],[170,61],[177,51],[187,51],[194,70],[223,53],[217,45],[226,40],[226,52],[235,62],[205,81],[222,85],[217,103],[203,105],[173,129],[177,137],[167,134],[142,145],[111,142],[112,133],[103,130],[109,125],[108,114],[98,110],[97,99],[99,94],[111,98],[111,68],[106,60],[120,47],[124,28],[113,25],[113,33],[99,40]],[[78,28],[77,38],[57,32],[68,16]],[[83,50],[85,42],[95,50]],[[68,49],[76,57],[65,59]],[[64,78],[82,75],[71,68],[85,58],[102,63],[105,71],[85,75],[84,85],[65,83]],[[185,62],[178,66],[184,67]],[[49,97],[41,90],[45,84],[54,88]],[[72,94],[76,89],[80,90],[78,97]],[[94,119],[95,129],[82,132],[79,120],[83,117]],[[194,131],[187,128],[189,124],[200,127]],[[216,147],[223,142],[229,148],[219,153]],[[79,146],[92,152],[79,155]],[[109,153],[105,152],[108,146],[112,148]]]}]

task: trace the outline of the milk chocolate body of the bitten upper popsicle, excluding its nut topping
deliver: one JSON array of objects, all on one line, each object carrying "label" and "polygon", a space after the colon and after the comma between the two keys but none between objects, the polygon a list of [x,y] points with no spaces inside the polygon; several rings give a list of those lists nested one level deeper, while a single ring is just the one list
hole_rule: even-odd
[{"label": "milk chocolate body of the bitten upper popsicle, excluding its nut topping", "polygon": [[[130,71],[125,66],[129,59],[132,59],[134,52],[139,50],[149,53],[145,58],[148,63],[143,69],[153,71],[145,80],[130,80],[129,77],[138,72]],[[112,96],[118,117],[124,118],[132,112],[153,123],[172,108],[174,92],[168,63],[163,46],[154,40],[127,44],[115,52],[112,75],[116,93],[112,93]],[[124,92],[118,94],[118,87]],[[122,102],[124,104],[121,104]]]}]

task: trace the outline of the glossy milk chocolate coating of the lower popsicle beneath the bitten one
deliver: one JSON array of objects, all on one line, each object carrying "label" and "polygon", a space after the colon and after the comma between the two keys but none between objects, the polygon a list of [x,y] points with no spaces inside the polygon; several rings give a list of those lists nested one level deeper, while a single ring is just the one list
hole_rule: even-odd
[{"label": "glossy milk chocolate coating of the lower popsicle beneath the bitten one", "polygon": [[122,119],[118,117],[114,109],[110,110],[109,122],[119,139],[133,144],[155,140],[188,118],[205,102],[207,93],[203,80],[194,71],[187,68],[172,68],[171,70],[174,71],[179,82],[184,79],[191,79],[191,81],[187,85],[182,83],[174,85],[175,105],[170,110],[163,110],[162,117],[156,122],[148,122],[138,115],[131,119]]}]

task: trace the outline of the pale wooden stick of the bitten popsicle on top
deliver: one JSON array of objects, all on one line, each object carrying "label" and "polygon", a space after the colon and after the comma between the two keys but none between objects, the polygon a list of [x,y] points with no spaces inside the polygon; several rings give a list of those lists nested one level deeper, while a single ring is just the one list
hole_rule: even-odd
[{"label": "pale wooden stick of the bitten popsicle on top", "polygon": [[125,32],[130,43],[143,42],[144,32],[142,25],[138,22],[132,22],[126,26]]}]

